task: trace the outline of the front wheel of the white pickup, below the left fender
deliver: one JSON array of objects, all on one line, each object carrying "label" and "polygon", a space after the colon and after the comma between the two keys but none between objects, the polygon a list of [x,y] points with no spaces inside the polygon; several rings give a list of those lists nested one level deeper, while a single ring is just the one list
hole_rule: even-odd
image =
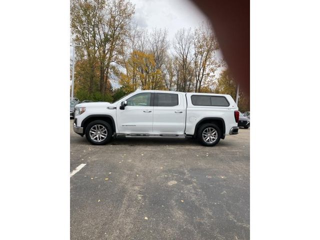
[{"label": "front wheel of the white pickup, below the left fender", "polygon": [[102,120],[91,121],[85,128],[86,139],[94,145],[104,145],[112,138],[112,127]]}]

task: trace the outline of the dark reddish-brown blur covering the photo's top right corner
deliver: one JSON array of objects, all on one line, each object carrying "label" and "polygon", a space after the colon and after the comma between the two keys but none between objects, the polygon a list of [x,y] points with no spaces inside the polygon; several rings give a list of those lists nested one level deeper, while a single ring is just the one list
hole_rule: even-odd
[{"label": "dark reddish-brown blur covering the photo's top right corner", "polygon": [[250,1],[192,0],[209,18],[223,57],[250,97]]}]

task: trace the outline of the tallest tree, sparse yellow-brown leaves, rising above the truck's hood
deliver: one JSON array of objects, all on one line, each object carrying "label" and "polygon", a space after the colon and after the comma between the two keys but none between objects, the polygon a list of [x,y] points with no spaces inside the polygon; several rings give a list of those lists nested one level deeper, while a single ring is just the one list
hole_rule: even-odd
[{"label": "tallest tree, sparse yellow-brown leaves, rising above the truck's hood", "polygon": [[[113,62],[128,35],[134,6],[129,0],[71,0],[71,33],[73,41],[84,47],[85,77],[88,92],[95,89],[96,68],[102,95],[111,94],[110,73]],[[81,50],[80,50],[81,51]]]}]

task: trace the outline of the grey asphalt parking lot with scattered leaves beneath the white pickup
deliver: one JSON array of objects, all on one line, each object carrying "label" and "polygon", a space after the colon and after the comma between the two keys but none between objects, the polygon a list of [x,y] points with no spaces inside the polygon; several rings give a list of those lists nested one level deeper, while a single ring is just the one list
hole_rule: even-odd
[{"label": "grey asphalt parking lot with scattered leaves beneath the white pickup", "polygon": [[70,119],[70,238],[249,239],[250,129],[91,145]]}]

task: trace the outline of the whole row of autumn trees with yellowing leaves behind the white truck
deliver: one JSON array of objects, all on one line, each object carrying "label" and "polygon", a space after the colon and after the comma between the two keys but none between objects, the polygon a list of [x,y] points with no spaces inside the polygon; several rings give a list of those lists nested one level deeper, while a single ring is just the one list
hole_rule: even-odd
[{"label": "whole row of autumn trees with yellowing leaves behind the white truck", "polygon": [[[148,32],[134,24],[130,0],[71,0],[70,12],[72,41],[81,46],[76,48],[74,84],[80,99],[112,101],[136,89],[235,98],[236,85],[208,23],[182,28],[169,40],[166,29]],[[240,105],[249,110],[242,93]]]}]

